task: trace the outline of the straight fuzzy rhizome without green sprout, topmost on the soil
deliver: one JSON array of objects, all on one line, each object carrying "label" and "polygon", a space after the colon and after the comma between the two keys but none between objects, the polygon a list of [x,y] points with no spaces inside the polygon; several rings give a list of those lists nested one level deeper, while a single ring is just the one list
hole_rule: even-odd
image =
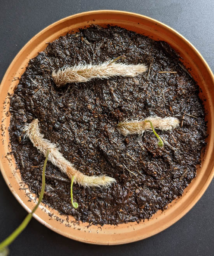
[{"label": "straight fuzzy rhizome without green sprout, topmost on the soil", "polygon": [[52,72],[52,78],[54,83],[58,87],[61,87],[67,83],[88,82],[93,78],[103,79],[114,76],[135,77],[148,69],[144,64],[128,65],[123,63],[114,63],[115,60],[109,60],[100,65],[79,64],[78,66],[65,67],[58,71],[54,70]]}]

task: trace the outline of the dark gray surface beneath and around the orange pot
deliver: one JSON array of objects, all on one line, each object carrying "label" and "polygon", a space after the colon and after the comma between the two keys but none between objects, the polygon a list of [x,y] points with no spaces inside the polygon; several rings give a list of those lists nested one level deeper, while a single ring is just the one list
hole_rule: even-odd
[{"label": "dark gray surface beneath and around the orange pot", "polygon": [[[174,28],[202,53],[214,70],[213,0],[0,0],[0,80],[19,50],[40,30],[83,11],[116,9],[144,14]],[[26,216],[0,174],[0,241]],[[60,236],[37,220],[9,247],[25,255],[214,255],[214,181],[200,201],[165,231],[139,242],[98,246]]]}]

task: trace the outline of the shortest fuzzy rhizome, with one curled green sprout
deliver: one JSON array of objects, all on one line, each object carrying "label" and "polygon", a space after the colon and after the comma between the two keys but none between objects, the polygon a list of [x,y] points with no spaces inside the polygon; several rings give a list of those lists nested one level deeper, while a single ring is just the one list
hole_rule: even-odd
[{"label": "shortest fuzzy rhizome, with one curled green sprout", "polygon": [[118,129],[124,136],[151,131],[151,125],[146,121],[151,121],[155,129],[162,131],[171,131],[174,128],[178,128],[180,123],[179,119],[175,117],[161,118],[158,116],[150,116],[145,119],[124,119],[118,124]]}]

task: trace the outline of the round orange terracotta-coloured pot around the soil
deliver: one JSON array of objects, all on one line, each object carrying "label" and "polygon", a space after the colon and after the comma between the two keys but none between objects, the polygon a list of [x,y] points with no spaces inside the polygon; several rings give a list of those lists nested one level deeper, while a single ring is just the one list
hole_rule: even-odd
[{"label": "round orange terracotta-coloured pot around the soil", "polygon": [[[159,211],[149,221],[146,220],[140,224],[130,222],[118,226],[104,225],[102,229],[94,225],[87,228],[88,223],[74,225],[70,223],[74,220],[73,217],[69,217],[67,221],[65,216],[59,215],[56,210],[46,208],[44,205],[41,205],[34,214],[34,217],[48,228],[78,241],[91,244],[125,244],[152,236],[175,223],[194,206],[212,180],[214,175],[214,133],[211,131],[214,129],[214,77],[203,57],[184,37],[167,25],[139,14],[123,11],[84,12],[57,21],[39,32],[12,61],[0,86],[0,120],[4,129],[0,140],[0,169],[12,193],[28,212],[35,204],[33,201],[28,201],[27,191],[19,190],[20,173],[16,172],[13,156],[7,155],[10,151],[7,131],[10,123],[10,116],[7,115],[9,110],[7,93],[12,93],[19,82],[14,80],[14,77],[21,76],[25,70],[22,68],[26,67],[28,61],[38,52],[46,48],[46,42],[54,41],[68,31],[75,31],[92,23],[101,26],[118,25],[149,36],[154,40],[166,41],[179,52],[184,66],[191,68],[191,75],[202,89],[200,98],[206,99],[204,107],[208,113],[206,119],[209,136],[207,137],[207,148],[202,157],[202,167],[198,167],[196,178],[184,190],[183,196],[169,205],[168,210]],[[30,197],[33,199],[35,195],[30,194]],[[53,217],[50,217],[48,213],[53,214]],[[58,217],[60,219],[56,220]]]}]

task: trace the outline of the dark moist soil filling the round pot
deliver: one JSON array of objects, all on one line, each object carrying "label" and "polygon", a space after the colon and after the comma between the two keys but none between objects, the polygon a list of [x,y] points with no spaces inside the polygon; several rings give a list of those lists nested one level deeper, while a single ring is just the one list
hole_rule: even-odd
[{"label": "dark moist soil filling the round pot", "polygon": [[[119,62],[151,64],[149,74],[94,79],[61,89],[51,79],[53,69],[99,64],[121,55],[126,59]],[[23,134],[25,124],[38,118],[40,132],[60,146],[75,168],[87,175],[107,174],[117,181],[106,189],[74,185],[74,200],[79,204],[74,209],[70,181],[48,162],[44,203],[93,224],[150,218],[181,196],[196,175],[206,137],[198,92],[177,53],[165,42],[119,27],[93,26],[60,37],[30,60],[11,97],[11,146],[23,181],[39,195],[44,156]],[[157,131],[164,139],[163,148],[157,146],[154,133],[124,137],[117,130],[124,118],[155,115],[184,118],[179,129]]]}]

